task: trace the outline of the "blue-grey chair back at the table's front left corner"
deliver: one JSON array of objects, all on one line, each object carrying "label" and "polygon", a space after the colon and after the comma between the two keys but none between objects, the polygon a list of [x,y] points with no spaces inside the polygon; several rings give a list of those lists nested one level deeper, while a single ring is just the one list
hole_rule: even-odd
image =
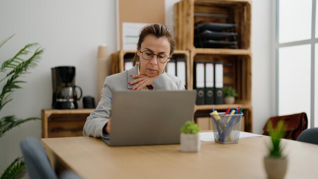
[{"label": "blue-grey chair back at the table's front left corner", "polygon": [[25,137],[20,142],[20,148],[26,165],[26,170],[31,179],[57,179],[57,175],[53,170],[44,147],[39,139],[31,136]]}]

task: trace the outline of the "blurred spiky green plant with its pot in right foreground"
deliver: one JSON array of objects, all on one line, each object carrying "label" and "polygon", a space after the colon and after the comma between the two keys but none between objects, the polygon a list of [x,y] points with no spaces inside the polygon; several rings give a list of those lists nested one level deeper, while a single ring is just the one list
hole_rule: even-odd
[{"label": "blurred spiky green plant with its pot in right foreground", "polygon": [[283,178],[287,171],[287,157],[282,154],[281,138],[286,127],[281,120],[273,129],[272,123],[268,123],[268,134],[271,137],[271,145],[268,146],[269,154],[264,158],[265,170],[268,178]]}]

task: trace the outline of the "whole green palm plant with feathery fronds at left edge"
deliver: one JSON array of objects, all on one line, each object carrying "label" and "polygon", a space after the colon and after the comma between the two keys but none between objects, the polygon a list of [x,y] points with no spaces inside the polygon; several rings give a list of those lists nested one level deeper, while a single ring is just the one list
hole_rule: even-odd
[{"label": "whole green palm plant with feathery fronds at left edge", "polygon": [[[1,42],[0,48],[13,36],[14,35],[11,35],[11,37]],[[0,111],[8,102],[12,101],[13,98],[11,97],[11,94],[16,89],[21,89],[22,87],[20,85],[25,83],[25,81],[19,80],[19,77],[27,74],[30,68],[34,68],[37,65],[37,62],[44,50],[37,48],[33,51],[32,49],[36,46],[38,46],[37,43],[27,44],[17,54],[15,54],[14,57],[2,63],[0,73],[6,73],[6,75],[0,80],[0,83],[5,83],[0,93]],[[18,119],[14,115],[2,117],[0,119],[0,137],[2,137],[7,131],[24,122],[39,119],[40,118],[37,117]],[[1,175],[1,179],[21,178],[25,173],[26,171],[23,158],[17,157]]]}]

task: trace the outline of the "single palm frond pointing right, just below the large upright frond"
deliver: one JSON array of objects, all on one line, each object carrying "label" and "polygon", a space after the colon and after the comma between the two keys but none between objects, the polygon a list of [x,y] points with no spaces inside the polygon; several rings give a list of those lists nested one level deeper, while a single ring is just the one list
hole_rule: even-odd
[{"label": "single palm frond pointing right, just below the large upright frond", "polygon": [[26,119],[17,119],[15,116],[6,116],[0,119],[0,137],[4,135],[7,131],[12,129],[13,127],[19,126],[20,124],[31,121],[31,120],[39,120],[40,118],[31,117]]}]

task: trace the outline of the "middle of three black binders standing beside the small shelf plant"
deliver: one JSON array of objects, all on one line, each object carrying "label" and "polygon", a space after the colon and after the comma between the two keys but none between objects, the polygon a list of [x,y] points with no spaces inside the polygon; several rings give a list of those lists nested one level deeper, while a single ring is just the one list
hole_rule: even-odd
[{"label": "middle of three black binders standing beside the small shelf plant", "polygon": [[205,104],[214,104],[214,64],[205,63]]}]

